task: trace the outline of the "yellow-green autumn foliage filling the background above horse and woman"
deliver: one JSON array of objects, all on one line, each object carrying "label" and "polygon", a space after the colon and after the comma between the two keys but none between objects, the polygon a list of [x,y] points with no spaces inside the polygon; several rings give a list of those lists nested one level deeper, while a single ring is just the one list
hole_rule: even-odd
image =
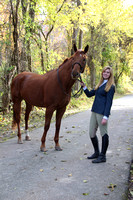
[{"label": "yellow-green autumn foliage filling the background above horse and woman", "polygon": [[[12,1],[14,12],[17,2]],[[25,10],[22,8],[22,2]],[[73,28],[75,28],[77,44],[81,29],[83,46],[85,44],[90,46],[88,55],[92,56],[96,82],[99,80],[102,67],[107,64],[113,67],[117,82],[121,74],[130,76],[133,6],[125,7],[122,1],[116,0],[23,0],[22,2],[19,3],[17,13],[18,60],[22,70],[29,70],[27,55],[31,56],[32,71],[44,73],[57,68],[71,54]],[[13,15],[10,15],[12,12],[9,5],[9,2],[4,0],[0,5],[1,19],[3,19],[0,20],[2,63],[9,63],[14,51]],[[25,68],[23,63],[26,63]],[[0,72],[11,74],[12,65],[10,63],[9,66],[4,65],[0,68]],[[88,86],[91,75],[92,72],[89,71],[84,76]]]}]

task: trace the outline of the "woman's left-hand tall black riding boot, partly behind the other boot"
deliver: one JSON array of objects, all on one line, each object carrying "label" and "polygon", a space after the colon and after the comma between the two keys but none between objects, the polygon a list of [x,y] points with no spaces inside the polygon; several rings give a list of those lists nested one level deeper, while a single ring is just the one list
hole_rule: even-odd
[{"label": "woman's left-hand tall black riding boot, partly behind the other boot", "polygon": [[88,159],[94,159],[98,158],[99,156],[99,145],[98,145],[98,138],[95,136],[94,138],[91,138],[91,142],[94,147],[94,154],[92,154],[90,157],[87,157]]}]

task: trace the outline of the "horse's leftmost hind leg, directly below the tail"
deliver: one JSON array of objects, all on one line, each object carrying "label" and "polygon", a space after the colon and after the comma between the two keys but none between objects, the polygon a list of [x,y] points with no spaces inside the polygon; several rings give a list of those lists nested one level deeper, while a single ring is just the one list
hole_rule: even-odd
[{"label": "horse's leftmost hind leg, directly below the tail", "polygon": [[23,141],[21,139],[21,132],[20,132],[20,112],[21,112],[21,100],[15,99],[13,102],[13,115],[14,121],[17,123],[18,128],[18,143],[22,144]]}]

